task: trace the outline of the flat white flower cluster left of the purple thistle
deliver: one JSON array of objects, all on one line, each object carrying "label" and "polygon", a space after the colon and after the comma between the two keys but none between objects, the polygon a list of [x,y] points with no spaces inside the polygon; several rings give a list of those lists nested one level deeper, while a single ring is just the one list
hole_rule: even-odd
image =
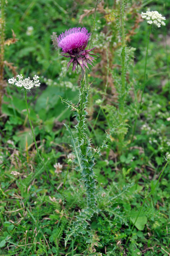
[{"label": "flat white flower cluster left of the purple thistle", "polygon": [[30,90],[31,88],[40,86],[40,83],[38,80],[39,77],[36,75],[33,77],[33,80],[30,80],[29,77],[23,79],[23,75],[17,75],[17,78],[18,78],[18,80],[14,77],[10,78],[8,80],[8,83],[16,85],[17,87],[25,88],[27,90]]}]

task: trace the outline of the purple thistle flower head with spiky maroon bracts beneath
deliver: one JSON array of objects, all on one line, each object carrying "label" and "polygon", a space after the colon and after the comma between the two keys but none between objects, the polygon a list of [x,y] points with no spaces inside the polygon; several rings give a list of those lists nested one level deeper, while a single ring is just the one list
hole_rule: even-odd
[{"label": "purple thistle flower head with spiky maroon bracts beneath", "polygon": [[[91,33],[88,33],[88,30],[86,28],[72,28],[68,31],[66,30],[57,38],[58,47],[62,48],[63,51],[61,55],[67,58],[71,58],[71,60],[67,64],[67,70],[71,63],[73,63],[72,71],[75,71],[76,67],[78,71],[78,64],[84,71],[85,67],[88,68],[87,63],[93,66],[92,63],[95,58],[90,55],[96,54],[90,54],[89,52],[91,52],[96,47],[91,50],[85,50],[90,36]],[[64,55],[66,53],[69,55]]]}]

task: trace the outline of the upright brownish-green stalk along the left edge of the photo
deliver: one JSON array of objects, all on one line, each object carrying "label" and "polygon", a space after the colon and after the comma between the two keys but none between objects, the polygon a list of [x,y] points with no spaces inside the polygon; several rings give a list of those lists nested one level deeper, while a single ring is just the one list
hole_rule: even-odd
[{"label": "upright brownish-green stalk along the left edge of the photo", "polygon": [[4,84],[4,27],[5,27],[5,14],[4,14],[5,0],[1,0],[1,17],[0,17],[0,113],[3,97],[3,84]]}]

